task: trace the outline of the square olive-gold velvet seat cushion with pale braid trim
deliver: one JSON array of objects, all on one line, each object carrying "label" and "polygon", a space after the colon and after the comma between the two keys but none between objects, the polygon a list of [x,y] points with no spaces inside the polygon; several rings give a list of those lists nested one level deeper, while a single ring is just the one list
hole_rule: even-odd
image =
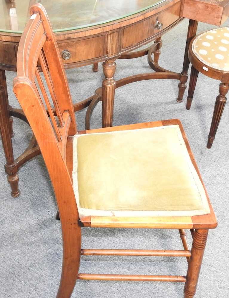
[{"label": "square olive-gold velvet seat cushion with pale braid trim", "polygon": [[76,135],[73,163],[74,192],[82,215],[209,213],[178,125]]}]

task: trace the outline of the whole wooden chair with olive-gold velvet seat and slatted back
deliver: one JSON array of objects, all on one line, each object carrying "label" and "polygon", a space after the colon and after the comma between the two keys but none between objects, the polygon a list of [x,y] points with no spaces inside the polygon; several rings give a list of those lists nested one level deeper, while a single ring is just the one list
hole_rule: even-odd
[{"label": "whole wooden chair with olive-gold velvet seat and slatted back", "polygon": [[[77,131],[47,14],[41,4],[30,13],[13,90],[40,146],[62,224],[63,265],[56,297],[70,297],[77,279],[184,282],[184,297],[193,297],[208,229],[217,221],[181,123]],[[81,249],[82,227],[179,229],[184,250]],[[191,250],[184,229],[191,230]],[[187,276],[82,274],[81,255],[186,257]]]}]

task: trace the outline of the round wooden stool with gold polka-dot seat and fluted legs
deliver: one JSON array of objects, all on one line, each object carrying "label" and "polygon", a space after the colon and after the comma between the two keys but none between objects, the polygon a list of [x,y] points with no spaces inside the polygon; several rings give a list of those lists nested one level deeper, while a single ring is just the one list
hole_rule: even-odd
[{"label": "round wooden stool with gold polka-dot seat and fluted legs", "polygon": [[188,58],[192,64],[186,109],[189,110],[199,72],[220,80],[207,148],[211,148],[226,103],[229,89],[229,27],[217,28],[196,36],[190,43]]}]

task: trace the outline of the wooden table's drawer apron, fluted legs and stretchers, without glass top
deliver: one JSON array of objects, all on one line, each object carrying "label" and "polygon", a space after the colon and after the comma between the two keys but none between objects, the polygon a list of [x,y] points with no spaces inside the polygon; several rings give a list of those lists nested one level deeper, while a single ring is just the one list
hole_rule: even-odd
[{"label": "wooden table's drawer apron, fluted legs and stretchers, without glass top", "polygon": [[[66,32],[55,32],[60,54],[66,69],[93,64],[97,71],[99,62],[103,61],[104,80],[102,87],[94,95],[74,105],[79,111],[88,107],[86,128],[90,128],[90,117],[95,105],[102,100],[103,127],[112,126],[115,89],[140,80],[175,79],[180,80],[177,101],[181,102],[186,88],[189,61],[187,50],[191,39],[196,35],[198,21],[190,20],[185,49],[182,73],[172,72],[158,65],[161,36],[183,20],[180,17],[182,0],[165,0],[150,9],[125,18],[93,27]],[[54,30],[55,31],[55,30]],[[13,156],[11,137],[13,136],[13,118],[27,119],[21,109],[12,108],[8,103],[5,70],[16,71],[16,56],[21,33],[0,32],[0,128],[1,139],[6,157],[5,171],[11,186],[11,195],[20,195],[18,187],[19,167],[40,154],[36,139],[33,136],[27,149],[16,159]],[[131,52],[150,41],[155,41],[147,49]],[[154,54],[154,59],[152,58]],[[116,59],[148,56],[148,63],[155,72],[134,75],[119,81],[113,79]]]}]

